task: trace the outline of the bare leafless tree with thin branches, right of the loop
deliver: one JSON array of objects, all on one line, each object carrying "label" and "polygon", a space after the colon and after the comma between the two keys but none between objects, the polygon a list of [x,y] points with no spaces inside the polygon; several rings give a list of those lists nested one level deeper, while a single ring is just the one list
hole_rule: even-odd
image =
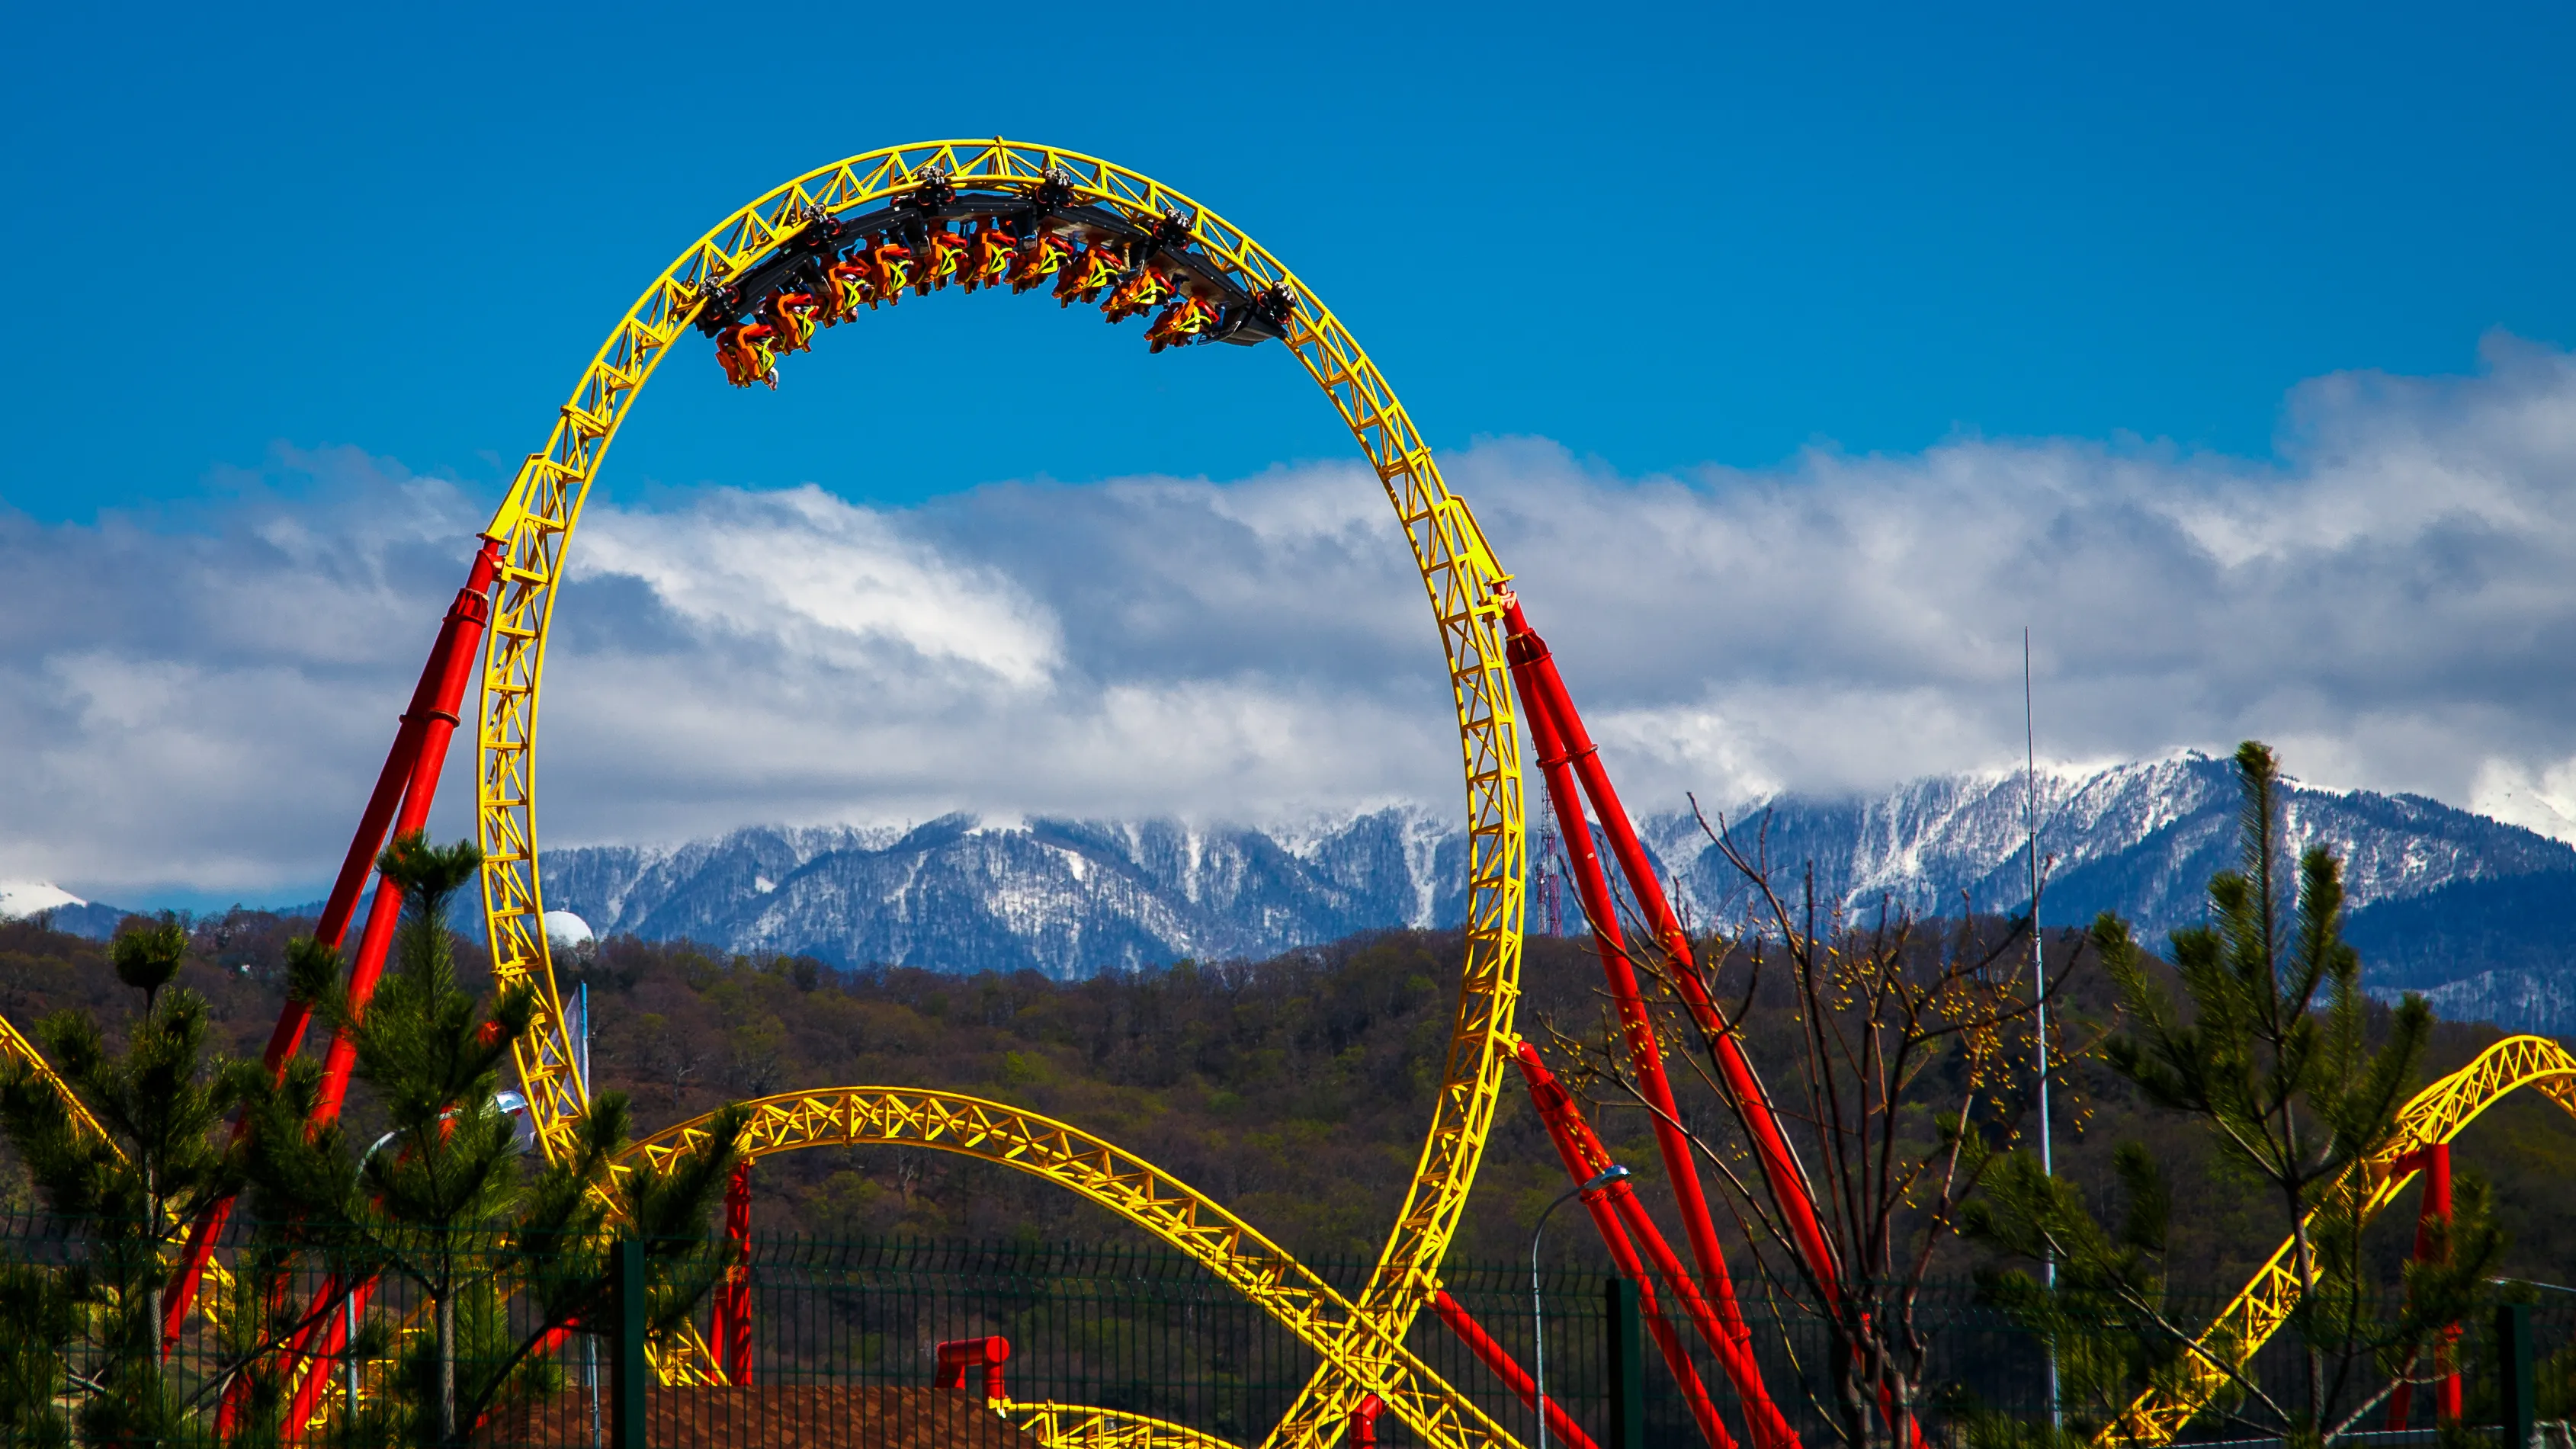
[{"label": "bare leafless tree with thin branches, right of the loop", "polygon": [[[1723,818],[1710,826],[1700,816],[1700,829],[1747,885],[1741,919],[1687,957],[1631,955],[1654,983],[1646,1006],[1656,1035],[1690,1063],[1698,1102],[1713,1104],[1682,1102],[1677,1125],[1723,1184],[1710,1202],[1736,1217],[1790,1356],[1821,1336],[1824,1361],[1803,1367],[1829,1385],[1819,1408],[1839,1439],[1911,1449],[1929,1392],[1917,1300],[1955,1235],[1960,1202],[2020,1130],[2038,1086],[2035,1014],[2063,991],[2074,960],[2050,968],[2043,993],[2027,970],[2027,916],[1978,919],[1963,901],[1953,927],[1924,929],[1880,903],[1860,924],[1819,901],[1814,865],[1783,891],[1759,834],[1747,852]],[[1685,999],[1721,1006],[1690,1011]],[[1595,1104],[1654,1112],[1607,1011],[1595,1029],[1548,1032]],[[1734,1055],[1785,1091],[1747,1102],[1731,1089],[1721,1066],[1728,1037]],[[2050,1063],[2063,1068],[2081,1050],[2053,1045]],[[1754,1114],[1788,1138],[1793,1174],[1759,1171]],[[1816,1230],[1803,1230],[1806,1215]]]}]

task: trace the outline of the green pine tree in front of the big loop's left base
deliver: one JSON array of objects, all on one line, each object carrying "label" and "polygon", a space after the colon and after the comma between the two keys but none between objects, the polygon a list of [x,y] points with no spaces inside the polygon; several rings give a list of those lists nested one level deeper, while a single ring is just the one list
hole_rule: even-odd
[{"label": "green pine tree in front of the big loop's left base", "polygon": [[[327,986],[337,973],[330,952],[301,947],[294,963],[296,988],[355,1045],[353,1078],[386,1132],[353,1150],[337,1122],[307,1130],[319,1086],[312,1068],[289,1073],[255,1109],[250,1174],[270,1238],[322,1248],[343,1289],[384,1274],[410,1279],[430,1313],[428,1341],[397,1364],[402,1390],[371,1405],[353,1428],[361,1439],[453,1446],[505,1392],[546,1387],[538,1349],[549,1333],[605,1315],[611,1204],[649,1235],[662,1328],[714,1279],[706,1223],[742,1114],[716,1122],[711,1150],[613,1181],[629,1109],[621,1094],[600,1094],[574,1150],[531,1168],[518,1122],[500,1107],[500,1073],[536,1017],[536,996],[526,986],[492,1001],[466,991],[446,927],[448,903],[479,865],[471,842],[430,847],[420,834],[384,852],[379,867],[386,888],[402,891],[402,927],[394,970],[363,1011],[345,988]],[[513,1295],[536,1305],[533,1331],[510,1331]]]}]

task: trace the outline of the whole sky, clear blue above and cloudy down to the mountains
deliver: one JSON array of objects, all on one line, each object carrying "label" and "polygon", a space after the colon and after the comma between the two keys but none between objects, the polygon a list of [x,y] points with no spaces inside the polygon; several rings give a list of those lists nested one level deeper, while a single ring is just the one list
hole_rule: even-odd
[{"label": "whole sky, clear blue above and cloudy down to the mountains", "polygon": [[[319,893],[634,293],[997,131],[1350,322],[1641,811],[2017,762],[2032,625],[2043,757],[2262,736],[2576,839],[2563,10],[1242,15],[15,18],[0,885]],[[546,844],[1455,800],[1419,584],[1275,347],[943,293],[778,394],[683,353],[572,558]]]}]

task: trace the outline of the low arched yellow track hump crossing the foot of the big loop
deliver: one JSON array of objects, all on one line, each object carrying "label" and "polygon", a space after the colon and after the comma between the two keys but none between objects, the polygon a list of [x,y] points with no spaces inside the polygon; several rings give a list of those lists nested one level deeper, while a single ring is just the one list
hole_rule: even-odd
[{"label": "low arched yellow track hump crossing the foot of the big loop", "polygon": [[[796,1148],[907,1145],[958,1153],[1041,1176],[1198,1259],[1278,1318],[1360,1392],[1376,1392],[1427,1444],[1512,1444],[1430,1364],[1404,1349],[1404,1328],[1365,1315],[1306,1264],[1262,1238],[1206,1194],[1079,1127],[1002,1102],[914,1086],[783,1091],[747,1104],[742,1150],[762,1158]],[[706,1117],[629,1148],[623,1166],[662,1166],[706,1143]],[[1358,1395],[1352,1395],[1358,1398]],[[1285,1426],[1270,1436],[1280,1444]]]}]

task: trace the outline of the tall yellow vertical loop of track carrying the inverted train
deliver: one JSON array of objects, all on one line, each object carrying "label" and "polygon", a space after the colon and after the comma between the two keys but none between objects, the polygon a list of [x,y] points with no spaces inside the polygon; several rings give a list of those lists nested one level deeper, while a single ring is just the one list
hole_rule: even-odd
[{"label": "tall yellow vertical loop of track carrying the inverted train", "polygon": [[546,628],[582,502],[636,394],[670,347],[690,337],[701,283],[757,265],[809,216],[876,206],[917,188],[933,167],[961,190],[1028,188],[1056,172],[1069,178],[1082,203],[1113,208],[1139,224],[1180,211],[1190,219],[1190,237],[1206,257],[1247,291],[1288,286],[1296,314],[1285,345],[1376,466],[1430,595],[1466,767],[1466,970],[1432,1125],[1378,1269],[1352,1300],[1347,1320],[1340,1320],[1340,1338],[1327,1349],[1324,1367],[1273,1434],[1278,1446],[1332,1441],[1352,1403],[1368,1392],[1363,1385],[1386,1374],[1378,1343],[1401,1343],[1414,1313],[1437,1287],[1435,1271],[1455,1235],[1502,1089],[1504,1042],[1520,991],[1525,852],[1520,736],[1512,726],[1510,672],[1494,605],[1494,589],[1507,574],[1486,548],[1466,502],[1440,481],[1440,468],[1404,404],[1340,319],[1239,226],[1151,178],[1079,152],[1002,139],[866,152],[778,185],[719,221],[680,252],[608,332],[572,399],[556,412],[544,450],[520,466],[487,528],[487,535],[502,543],[502,566],[484,649],[474,790],[495,978],[528,983],[541,1001],[536,1029],[518,1048],[531,1114],[546,1150],[559,1153],[587,1102],[587,1086],[572,1068],[572,1042],[564,1035],[562,999],[541,929],[533,764]]}]

